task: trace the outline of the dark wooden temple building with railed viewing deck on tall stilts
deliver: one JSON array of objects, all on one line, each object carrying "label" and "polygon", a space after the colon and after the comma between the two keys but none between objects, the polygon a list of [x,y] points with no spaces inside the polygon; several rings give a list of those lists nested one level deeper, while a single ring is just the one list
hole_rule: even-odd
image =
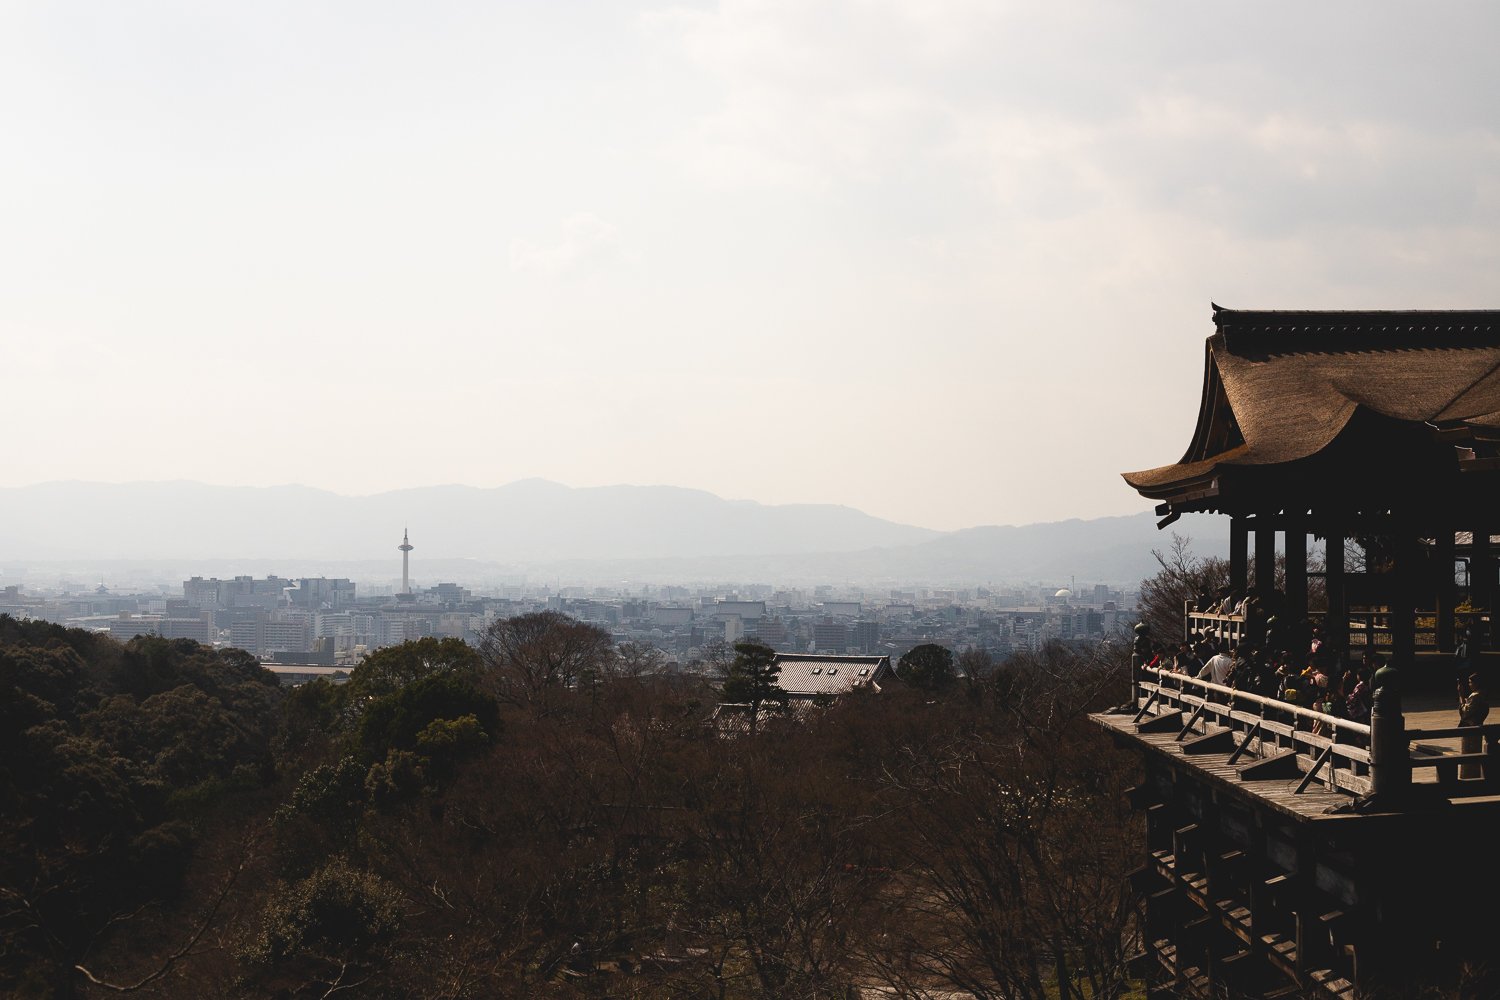
[{"label": "dark wooden temple building with railed viewing deck on tall stilts", "polygon": [[1284,648],[1317,624],[1389,666],[1356,723],[1134,660],[1131,700],[1095,721],[1144,762],[1143,975],[1154,996],[1500,996],[1500,726],[1419,730],[1402,708],[1454,690],[1464,628],[1491,642],[1500,312],[1215,306],[1214,325],[1186,453],[1125,481],[1162,526],[1230,517],[1232,588],[1274,606]]}]

